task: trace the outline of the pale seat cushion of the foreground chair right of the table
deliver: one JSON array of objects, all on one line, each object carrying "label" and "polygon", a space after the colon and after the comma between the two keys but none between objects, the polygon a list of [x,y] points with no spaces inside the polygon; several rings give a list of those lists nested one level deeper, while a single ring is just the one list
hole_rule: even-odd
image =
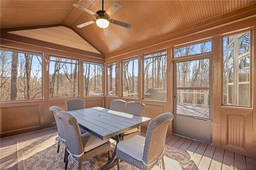
[{"label": "pale seat cushion of the foreground chair right of the table", "polygon": [[128,154],[132,158],[138,161],[142,161],[144,143],[145,143],[145,138],[143,136],[135,134],[130,138],[127,138],[126,140],[122,140],[118,142],[116,148]]}]

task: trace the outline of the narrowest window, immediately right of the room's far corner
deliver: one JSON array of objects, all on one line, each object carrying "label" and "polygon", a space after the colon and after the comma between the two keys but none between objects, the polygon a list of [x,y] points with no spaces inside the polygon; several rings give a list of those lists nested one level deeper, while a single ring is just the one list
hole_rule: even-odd
[{"label": "narrowest window, immediately right of the room's far corner", "polygon": [[118,96],[118,63],[108,64],[107,71],[108,95]]}]

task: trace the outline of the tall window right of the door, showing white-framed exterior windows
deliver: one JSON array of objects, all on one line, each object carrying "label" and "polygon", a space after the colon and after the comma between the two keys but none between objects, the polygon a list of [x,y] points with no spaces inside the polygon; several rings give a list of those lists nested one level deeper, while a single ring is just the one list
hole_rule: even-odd
[{"label": "tall window right of the door, showing white-framed exterior windows", "polygon": [[250,32],[224,37],[224,105],[250,105],[250,67]]}]

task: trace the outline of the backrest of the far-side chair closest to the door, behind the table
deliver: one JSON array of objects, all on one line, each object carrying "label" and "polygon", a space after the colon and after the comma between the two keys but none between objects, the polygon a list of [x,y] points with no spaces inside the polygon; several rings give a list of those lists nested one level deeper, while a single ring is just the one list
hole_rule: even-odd
[{"label": "backrest of the far-side chair closest to the door, behind the table", "polygon": [[138,101],[130,101],[127,102],[124,112],[135,116],[143,116],[144,110],[145,105],[143,103],[140,103]]}]

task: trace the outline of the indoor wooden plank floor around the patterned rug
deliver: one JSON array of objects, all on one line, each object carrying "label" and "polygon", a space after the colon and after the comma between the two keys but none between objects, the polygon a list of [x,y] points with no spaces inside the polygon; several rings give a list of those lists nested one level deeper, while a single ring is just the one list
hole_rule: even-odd
[{"label": "indoor wooden plank floor around the patterned rug", "polygon": [[[141,128],[141,135],[146,135],[146,128]],[[0,138],[0,170],[17,170],[16,143],[46,134],[57,132],[57,128],[47,128],[23,134]],[[212,147],[210,144],[185,138],[175,134],[166,135],[166,144],[202,157],[199,170],[256,170],[256,160],[234,152]]]}]

